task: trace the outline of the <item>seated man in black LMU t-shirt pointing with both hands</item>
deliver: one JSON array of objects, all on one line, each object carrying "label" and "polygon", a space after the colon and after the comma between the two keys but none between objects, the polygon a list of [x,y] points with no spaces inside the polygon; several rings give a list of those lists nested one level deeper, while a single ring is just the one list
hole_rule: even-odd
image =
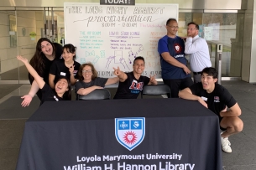
[{"label": "seated man in black LMU t-shirt pointing with both hands", "polygon": [[136,57],[133,61],[133,71],[124,73],[118,67],[114,69],[114,75],[119,78],[119,85],[113,99],[137,99],[144,85],[157,85],[154,76],[143,76],[145,61],[143,57]]}]

